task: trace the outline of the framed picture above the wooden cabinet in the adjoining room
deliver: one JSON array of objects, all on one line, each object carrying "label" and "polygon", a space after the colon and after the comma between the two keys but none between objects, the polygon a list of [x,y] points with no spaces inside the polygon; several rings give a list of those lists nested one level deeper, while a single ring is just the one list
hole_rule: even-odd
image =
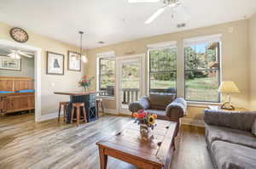
[{"label": "framed picture above the wooden cabinet in the adjoining room", "polygon": [[21,59],[0,56],[0,70],[21,70]]}]

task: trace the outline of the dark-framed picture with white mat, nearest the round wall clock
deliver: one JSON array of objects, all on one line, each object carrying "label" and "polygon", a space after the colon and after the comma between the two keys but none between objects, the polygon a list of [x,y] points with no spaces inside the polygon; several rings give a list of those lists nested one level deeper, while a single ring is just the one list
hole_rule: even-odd
[{"label": "dark-framed picture with white mat, nearest the round wall clock", "polygon": [[47,51],[46,74],[64,75],[64,54]]}]

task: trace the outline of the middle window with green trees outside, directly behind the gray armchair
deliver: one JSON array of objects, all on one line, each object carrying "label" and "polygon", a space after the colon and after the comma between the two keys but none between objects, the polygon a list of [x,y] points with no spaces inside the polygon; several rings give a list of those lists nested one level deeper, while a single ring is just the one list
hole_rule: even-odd
[{"label": "middle window with green trees outside, directly behind the gray armchair", "polygon": [[176,93],[177,48],[149,49],[149,93]]}]

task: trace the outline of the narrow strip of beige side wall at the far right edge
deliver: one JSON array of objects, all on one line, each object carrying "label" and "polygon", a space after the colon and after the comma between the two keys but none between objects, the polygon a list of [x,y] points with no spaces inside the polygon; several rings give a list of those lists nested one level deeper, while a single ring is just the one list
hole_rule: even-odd
[{"label": "narrow strip of beige side wall at the far right edge", "polygon": [[256,110],[256,14],[249,20],[251,109]]}]

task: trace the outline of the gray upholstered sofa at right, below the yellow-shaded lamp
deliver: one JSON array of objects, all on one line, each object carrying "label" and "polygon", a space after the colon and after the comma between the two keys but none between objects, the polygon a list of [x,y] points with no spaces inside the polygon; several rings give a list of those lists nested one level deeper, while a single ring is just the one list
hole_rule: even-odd
[{"label": "gray upholstered sofa at right, below the yellow-shaded lamp", "polygon": [[216,169],[256,168],[256,112],[204,110],[204,120]]}]

